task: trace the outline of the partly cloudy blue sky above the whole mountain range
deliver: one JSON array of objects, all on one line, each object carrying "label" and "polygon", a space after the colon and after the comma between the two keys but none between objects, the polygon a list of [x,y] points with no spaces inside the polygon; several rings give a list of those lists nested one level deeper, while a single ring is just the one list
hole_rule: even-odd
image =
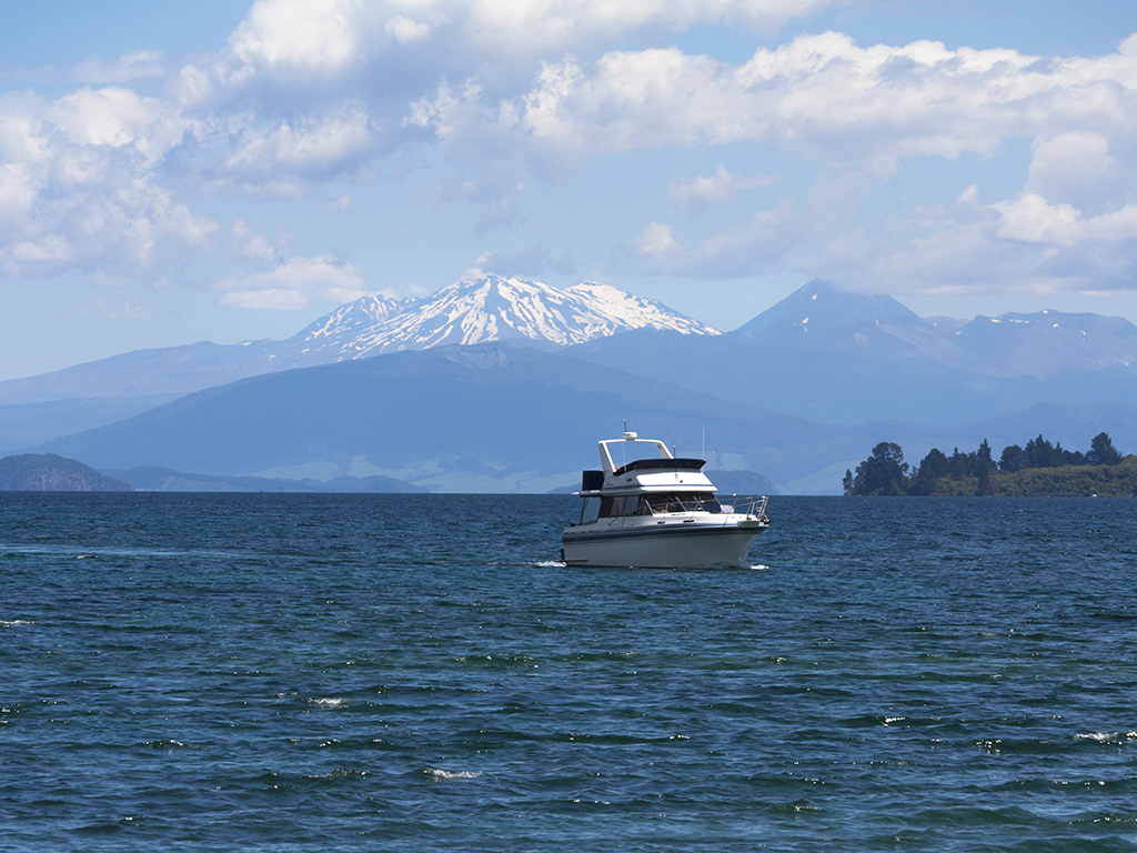
[{"label": "partly cloudy blue sky above the whole mountain range", "polygon": [[1137,322],[1132,0],[3,2],[0,380],[487,273]]}]

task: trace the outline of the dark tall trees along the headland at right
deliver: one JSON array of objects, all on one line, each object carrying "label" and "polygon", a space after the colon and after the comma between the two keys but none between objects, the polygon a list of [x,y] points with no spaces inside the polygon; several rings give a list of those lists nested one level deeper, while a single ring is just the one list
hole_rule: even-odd
[{"label": "dark tall trees along the headland at right", "polygon": [[996,472],[1013,474],[1031,469],[1118,465],[1121,459],[1121,454],[1105,432],[1094,438],[1086,453],[1063,449],[1062,442],[1051,444],[1039,434],[1026,447],[1005,447],[997,463],[987,439],[971,453],[961,453],[960,448],[955,448],[951,456],[933,447],[910,471],[901,446],[881,441],[872,448],[872,455],[856,466],[855,472],[845,471],[841,485],[846,495],[982,496],[993,494],[991,475]]}]

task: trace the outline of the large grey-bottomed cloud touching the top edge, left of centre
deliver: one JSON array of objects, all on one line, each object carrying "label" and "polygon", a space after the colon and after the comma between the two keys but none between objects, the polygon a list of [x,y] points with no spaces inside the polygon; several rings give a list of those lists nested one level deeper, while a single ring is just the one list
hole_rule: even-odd
[{"label": "large grey-bottomed cloud touching the top edge, left of centre", "polygon": [[[495,150],[549,164],[564,140],[554,144],[548,127],[533,129],[555,107],[548,88],[571,72],[567,57],[599,57],[616,41],[658,41],[697,25],[770,31],[844,2],[257,0],[223,50],[173,75],[174,89],[213,142],[230,149],[225,171],[269,193],[302,191],[429,139],[423,130],[449,139],[475,169]],[[529,91],[534,75],[542,88]]]}]

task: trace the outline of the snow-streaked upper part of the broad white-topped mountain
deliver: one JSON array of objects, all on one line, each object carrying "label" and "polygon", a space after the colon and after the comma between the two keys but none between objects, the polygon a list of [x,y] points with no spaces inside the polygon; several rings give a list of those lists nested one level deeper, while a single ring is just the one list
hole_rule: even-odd
[{"label": "snow-streaked upper part of the broad white-topped mountain", "polygon": [[335,351],[340,358],[362,358],[511,338],[567,346],[642,328],[720,333],[661,303],[608,284],[583,282],[561,289],[488,275],[422,299],[359,299],[321,317],[287,343],[298,355]]}]

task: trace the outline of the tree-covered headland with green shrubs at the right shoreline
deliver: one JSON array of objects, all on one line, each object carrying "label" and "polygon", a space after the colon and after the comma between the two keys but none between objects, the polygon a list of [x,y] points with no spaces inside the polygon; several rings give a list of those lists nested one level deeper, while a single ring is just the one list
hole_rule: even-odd
[{"label": "tree-covered headland with green shrubs at the right shoreline", "polygon": [[881,441],[855,472],[846,470],[843,486],[846,495],[1132,497],[1137,456],[1122,456],[1105,432],[1086,453],[1039,434],[1024,447],[1005,447],[998,462],[986,439],[972,453],[932,448],[910,471],[901,446]]}]

